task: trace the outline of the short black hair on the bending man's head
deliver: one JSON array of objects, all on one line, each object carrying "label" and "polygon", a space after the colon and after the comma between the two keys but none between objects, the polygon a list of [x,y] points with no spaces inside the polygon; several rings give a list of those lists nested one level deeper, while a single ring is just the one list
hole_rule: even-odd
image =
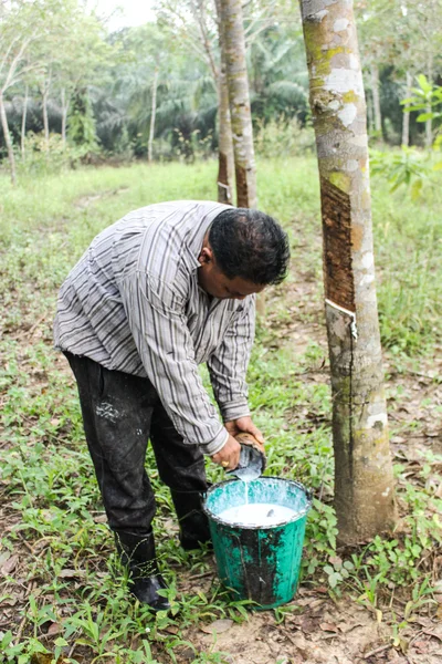
[{"label": "short black hair on the bending man's head", "polygon": [[259,210],[223,210],[212,221],[209,242],[228,279],[241,277],[267,286],[281,283],[287,273],[287,235],[275,219]]}]

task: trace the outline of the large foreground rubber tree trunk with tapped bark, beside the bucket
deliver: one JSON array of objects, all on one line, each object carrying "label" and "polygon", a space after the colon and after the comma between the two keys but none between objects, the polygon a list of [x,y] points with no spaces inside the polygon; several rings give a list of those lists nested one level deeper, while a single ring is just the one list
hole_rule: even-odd
[{"label": "large foreground rubber tree trunk with tapped bark, beside the bucket", "polygon": [[366,103],[352,2],[299,0],[324,236],[339,539],[359,543],[396,520],[383,392]]}]

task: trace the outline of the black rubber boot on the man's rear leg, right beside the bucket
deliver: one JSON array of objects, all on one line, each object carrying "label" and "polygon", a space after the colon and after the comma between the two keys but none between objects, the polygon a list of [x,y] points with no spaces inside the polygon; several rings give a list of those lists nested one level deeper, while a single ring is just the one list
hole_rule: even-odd
[{"label": "black rubber boot on the man's rear leg, right beside the bucket", "polygon": [[170,489],[180,527],[180,542],[186,551],[211,543],[209,520],[202,511],[203,494]]}]

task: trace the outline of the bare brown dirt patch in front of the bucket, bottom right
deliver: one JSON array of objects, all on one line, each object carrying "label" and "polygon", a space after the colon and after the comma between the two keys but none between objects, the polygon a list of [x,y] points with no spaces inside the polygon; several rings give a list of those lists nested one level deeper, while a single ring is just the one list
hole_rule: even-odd
[{"label": "bare brown dirt patch in front of the bucket, bottom right", "polygon": [[[401,646],[391,644],[386,622],[351,600],[337,603],[327,595],[299,589],[298,608],[276,624],[272,612],[251,613],[246,623],[221,623],[221,633],[190,631],[186,636],[197,647],[229,653],[232,664],[439,664],[442,661],[442,624],[418,619],[401,634]],[[225,631],[223,631],[225,630]],[[191,652],[188,653],[191,660]],[[189,661],[188,660],[188,661]],[[186,661],[186,653],[181,654]]]}]

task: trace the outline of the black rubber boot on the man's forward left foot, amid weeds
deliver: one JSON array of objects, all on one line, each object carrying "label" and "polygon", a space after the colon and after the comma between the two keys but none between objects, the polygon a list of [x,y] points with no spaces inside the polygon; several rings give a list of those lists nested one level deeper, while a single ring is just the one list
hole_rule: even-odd
[{"label": "black rubber boot on the man's forward left foot, amid weeds", "polygon": [[170,609],[168,600],[158,594],[158,590],[165,590],[167,585],[157,566],[154,532],[150,530],[141,536],[117,530],[115,541],[122,562],[129,570],[130,592],[154,611]]}]

